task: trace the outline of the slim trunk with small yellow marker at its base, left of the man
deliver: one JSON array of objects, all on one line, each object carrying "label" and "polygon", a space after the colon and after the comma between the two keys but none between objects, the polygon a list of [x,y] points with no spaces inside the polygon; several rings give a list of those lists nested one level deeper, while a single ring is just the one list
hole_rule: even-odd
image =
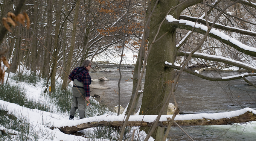
[{"label": "slim trunk with small yellow marker at its base, left of the man", "polygon": [[[59,0],[57,3],[57,12],[56,12],[56,24],[55,24],[55,36],[54,36],[54,49],[53,49],[53,57],[58,60],[58,44],[59,44],[59,25],[61,20],[61,8],[62,8],[62,0]],[[66,36],[66,35],[64,35]],[[51,89],[52,92],[55,92],[55,81],[56,81],[56,68],[57,62],[52,58],[52,74],[51,74]]]}]

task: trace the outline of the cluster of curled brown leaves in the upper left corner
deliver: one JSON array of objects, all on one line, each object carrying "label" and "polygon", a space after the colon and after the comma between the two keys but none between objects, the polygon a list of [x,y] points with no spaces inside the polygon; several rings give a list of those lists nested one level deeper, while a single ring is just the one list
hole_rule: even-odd
[{"label": "cluster of curled brown leaves in the upper left corner", "polygon": [[2,23],[9,32],[12,32],[10,24],[15,27],[18,25],[17,24],[17,22],[18,22],[18,23],[21,23],[25,27],[25,20],[27,21],[27,29],[29,29],[30,20],[29,20],[29,16],[27,15],[27,13],[23,12],[23,15],[18,14],[17,16],[15,16],[15,14],[13,14],[12,12],[8,12],[7,18],[5,18],[5,17],[2,18]]}]

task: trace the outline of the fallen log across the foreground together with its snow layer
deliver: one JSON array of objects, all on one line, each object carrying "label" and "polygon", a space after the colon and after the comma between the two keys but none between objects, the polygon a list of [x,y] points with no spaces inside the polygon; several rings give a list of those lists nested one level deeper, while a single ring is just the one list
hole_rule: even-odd
[{"label": "fallen log across the foreground together with its snow layer", "polygon": [[[130,116],[127,126],[152,126],[157,115],[133,115]],[[172,115],[162,115],[157,126],[168,126],[168,118]],[[98,127],[98,126],[111,126],[121,127],[125,120],[124,115],[111,116],[101,115],[97,117],[84,118],[77,121],[69,121],[67,124],[73,124],[73,126],[52,126],[51,129],[58,128],[61,132],[66,134],[72,134],[79,130]],[[234,123],[246,123],[249,121],[256,121],[256,111],[250,108],[244,108],[233,112],[223,112],[214,114],[188,114],[188,115],[177,115],[175,122],[181,126],[191,125],[227,125]]]}]

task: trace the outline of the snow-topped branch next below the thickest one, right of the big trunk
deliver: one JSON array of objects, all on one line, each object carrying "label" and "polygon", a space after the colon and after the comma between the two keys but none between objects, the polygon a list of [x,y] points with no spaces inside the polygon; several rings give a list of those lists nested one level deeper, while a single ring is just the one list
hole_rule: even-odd
[{"label": "snow-topped branch next below the thickest one, right of the big trunk", "polygon": [[[189,53],[190,52],[178,52],[177,56],[189,56]],[[201,59],[209,60],[209,61],[222,62],[222,63],[225,63],[225,64],[229,64],[229,65],[233,65],[233,66],[236,66],[236,67],[243,68],[243,69],[248,70],[248,71],[252,71],[252,70],[256,71],[256,67],[247,65],[247,64],[239,62],[239,61],[235,61],[233,59],[225,58],[225,57],[222,57],[222,56],[208,55],[208,54],[204,54],[204,53],[195,52],[192,55],[192,58],[201,58]]]}]

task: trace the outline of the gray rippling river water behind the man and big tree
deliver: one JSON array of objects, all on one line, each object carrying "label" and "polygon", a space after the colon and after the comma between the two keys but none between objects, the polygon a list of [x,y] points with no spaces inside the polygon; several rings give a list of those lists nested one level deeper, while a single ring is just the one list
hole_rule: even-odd
[{"label": "gray rippling river water behind the man and big tree", "polygon": [[[128,105],[132,91],[133,68],[122,68],[122,80],[120,83],[120,105],[125,108]],[[201,74],[209,77],[225,77],[241,73],[203,71]],[[119,71],[117,68],[106,68],[104,71],[90,73],[92,79],[106,77],[108,81],[94,81],[92,84],[107,86],[109,89],[91,89],[91,96],[98,94],[98,99],[102,104],[113,108],[118,105],[118,81]],[[248,78],[256,83],[255,77]],[[144,79],[143,79],[144,81]],[[139,105],[142,101],[140,96]],[[256,89],[249,86],[244,80],[232,80],[228,82],[211,82],[197,76],[182,73],[178,82],[175,97],[178,102],[180,112],[183,114],[194,113],[216,113],[235,111],[245,107],[256,109]],[[172,100],[171,103],[174,103]],[[240,124],[238,124],[240,125]],[[255,141],[256,122],[238,125],[218,125],[218,126],[183,126],[194,140],[207,141]],[[189,138],[177,127],[174,126],[169,133],[173,141],[187,141]]]}]

